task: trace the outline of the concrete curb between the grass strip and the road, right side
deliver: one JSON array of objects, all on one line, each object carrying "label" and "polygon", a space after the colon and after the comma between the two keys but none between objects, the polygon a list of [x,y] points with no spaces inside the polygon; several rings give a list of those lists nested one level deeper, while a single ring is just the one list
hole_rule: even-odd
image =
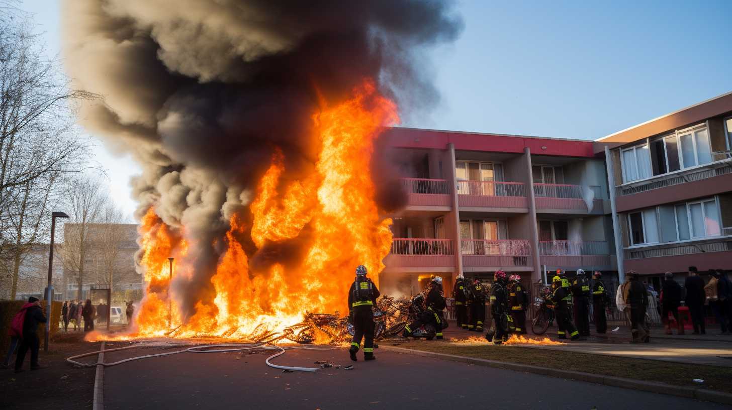
[{"label": "concrete curb between the grass strip and the road, right side", "polygon": [[450,360],[452,362],[468,363],[469,365],[541,374],[544,376],[560,377],[562,379],[574,379],[578,381],[587,381],[589,383],[603,384],[605,386],[623,387],[624,389],[638,389],[644,392],[660,393],[662,395],[672,395],[732,405],[732,394],[709,389],[701,389],[699,387],[674,386],[673,384],[659,383],[657,381],[625,379],[624,377],[603,376],[600,374],[584,373],[573,370],[560,370],[543,368],[541,366],[521,365],[519,363],[498,362],[497,360],[477,359],[475,357],[457,356],[455,354],[433,353],[431,351],[414,350],[411,348],[396,346],[382,345],[379,347],[387,351],[412,354],[414,356],[432,357],[435,359]]}]

